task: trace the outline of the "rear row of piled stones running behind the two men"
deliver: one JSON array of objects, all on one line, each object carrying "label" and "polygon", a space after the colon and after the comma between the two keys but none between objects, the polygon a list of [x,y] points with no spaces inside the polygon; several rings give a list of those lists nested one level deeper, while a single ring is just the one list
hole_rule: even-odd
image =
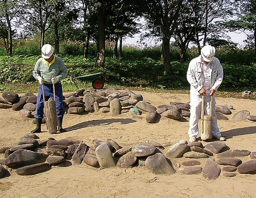
[{"label": "rear row of piled stones running behind the two men", "polygon": [[[146,121],[148,123],[157,122],[161,116],[180,121],[184,117],[190,116],[189,103],[171,101],[169,105],[155,107],[143,101],[141,94],[135,94],[129,89],[125,89],[123,92],[115,88],[108,88],[106,90],[95,90],[93,88],[89,88],[88,90],[79,89],[76,92],[64,95],[63,99],[65,110],[70,114],[101,111],[103,113],[110,112],[112,116],[116,116],[129,112],[132,118],[142,119],[141,114],[147,113]],[[52,99],[50,98],[49,100]],[[17,93],[4,92],[2,98],[0,98],[0,108],[12,108],[15,111],[20,111],[22,115],[33,118],[32,112],[35,111],[36,102],[37,97],[30,92],[25,93],[21,97]],[[232,109],[233,106],[231,104],[217,105],[217,119],[228,120],[224,115],[230,115]],[[256,116],[250,115],[248,110],[241,110],[232,118],[232,120],[237,121],[246,119],[256,121]],[[45,123],[45,119],[43,119],[42,123]]]}]

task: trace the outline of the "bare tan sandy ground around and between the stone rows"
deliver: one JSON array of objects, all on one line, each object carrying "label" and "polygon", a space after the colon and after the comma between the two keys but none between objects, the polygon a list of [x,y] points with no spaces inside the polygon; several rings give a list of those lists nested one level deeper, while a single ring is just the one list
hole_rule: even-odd
[{"label": "bare tan sandy ground around and between the stone rows", "polygon": [[[154,106],[170,101],[188,102],[189,95],[170,93],[140,93],[144,101]],[[256,123],[233,121],[232,116],[240,110],[249,110],[256,115],[256,101],[234,98],[216,98],[217,105],[230,103],[234,106],[229,120],[219,120],[218,125],[222,135],[227,138],[230,149],[245,149],[256,151]],[[60,140],[72,137],[83,140],[89,146],[94,139],[106,141],[111,138],[120,145],[139,140],[154,140],[158,143],[189,140],[187,130],[189,118],[175,121],[162,117],[157,123],[146,121],[147,113],[142,114],[142,120],[131,119],[126,114],[111,116],[109,113],[89,113],[84,115],[64,116],[65,133],[50,135],[46,125],[42,125],[42,133],[37,135],[40,140],[53,137]],[[22,116],[12,109],[0,109],[0,147],[17,145],[17,140],[33,130],[31,118]],[[206,142],[203,142],[206,145]],[[161,150],[163,154],[169,147]],[[213,156],[217,159],[216,155]],[[4,155],[0,155],[3,159]],[[250,160],[249,156],[241,157],[242,161]],[[173,168],[179,169],[186,158],[171,159]],[[204,167],[205,160],[199,159]],[[68,167],[52,166],[52,169],[36,175],[19,176],[10,170],[10,176],[0,179],[1,198],[84,198],[84,197],[174,197],[174,198],[228,198],[255,197],[256,175],[239,174],[232,178],[219,176],[216,180],[207,180],[200,175],[154,175],[145,166],[136,165],[131,168],[93,168],[85,163]]]}]

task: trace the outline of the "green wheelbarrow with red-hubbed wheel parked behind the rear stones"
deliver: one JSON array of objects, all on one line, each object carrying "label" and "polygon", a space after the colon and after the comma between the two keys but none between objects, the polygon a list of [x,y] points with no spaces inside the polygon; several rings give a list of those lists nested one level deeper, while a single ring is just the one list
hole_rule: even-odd
[{"label": "green wheelbarrow with red-hubbed wheel parked behind the rear stones", "polygon": [[[82,89],[84,88],[85,83],[88,81],[92,81],[92,85],[93,85],[94,89],[102,89],[104,87],[104,83],[100,78],[100,76],[102,74],[103,74],[102,72],[92,73],[92,74],[88,74],[88,75],[84,75],[84,76],[75,77],[75,79],[83,82]],[[79,89],[76,81],[74,80],[74,78],[72,76],[71,76],[71,81],[74,82],[76,88]]]}]

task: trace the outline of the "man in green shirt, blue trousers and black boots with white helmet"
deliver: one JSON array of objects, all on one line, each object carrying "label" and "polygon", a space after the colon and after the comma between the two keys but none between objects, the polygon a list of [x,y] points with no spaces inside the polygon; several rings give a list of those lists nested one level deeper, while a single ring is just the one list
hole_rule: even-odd
[{"label": "man in green shirt, blue trousers and black boots with white helmet", "polygon": [[[53,47],[49,44],[43,45],[42,58],[39,58],[35,63],[33,70],[33,77],[39,81],[39,91],[37,95],[37,106],[35,109],[36,128],[31,133],[40,133],[42,119],[44,118],[44,99],[42,92],[42,84],[44,84],[45,100],[48,101],[51,97],[54,99],[53,84],[55,85],[56,94],[56,110],[57,110],[57,122],[58,131],[65,131],[62,128],[62,121],[64,116],[63,107],[63,93],[61,80],[67,76],[67,68],[61,58],[54,56]],[[52,77],[52,75],[54,77]]]}]

